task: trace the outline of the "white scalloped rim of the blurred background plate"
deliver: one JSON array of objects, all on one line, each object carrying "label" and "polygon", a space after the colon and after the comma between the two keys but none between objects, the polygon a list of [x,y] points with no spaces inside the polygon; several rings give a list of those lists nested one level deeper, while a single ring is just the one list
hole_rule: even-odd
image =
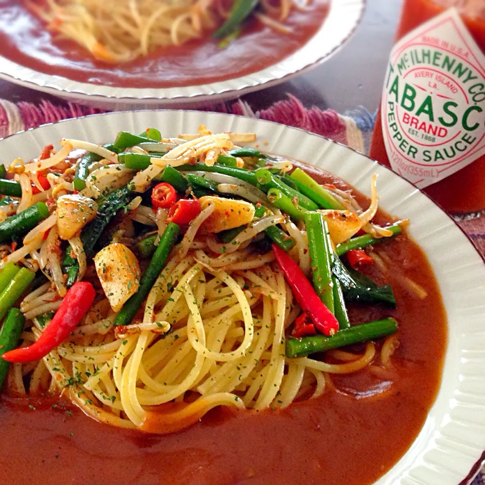
[{"label": "white scalloped rim of the blurred background plate", "polygon": [[0,77],[104,109],[195,107],[209,100],[234,99],[247,92],[274,86],[317,66],[350,38],[362,18],[364,6],[365,0],[331,0],[322,27],[297,52],[261,71],[211,84],[170,88],[102,86],[47,75],[1,56]]}]

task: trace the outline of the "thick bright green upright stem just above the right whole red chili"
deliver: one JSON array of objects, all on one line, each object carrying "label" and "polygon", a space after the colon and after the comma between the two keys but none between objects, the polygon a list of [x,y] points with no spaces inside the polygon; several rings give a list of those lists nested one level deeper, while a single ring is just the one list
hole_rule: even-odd
[{"label": "thick bright green upright stem just above the right whole red chili", "polygon": [[313,286],[322,303],[334,314],[333,302],[333,249],[328,225],[321,212],[305,213],[308,246],[312,260]]}]

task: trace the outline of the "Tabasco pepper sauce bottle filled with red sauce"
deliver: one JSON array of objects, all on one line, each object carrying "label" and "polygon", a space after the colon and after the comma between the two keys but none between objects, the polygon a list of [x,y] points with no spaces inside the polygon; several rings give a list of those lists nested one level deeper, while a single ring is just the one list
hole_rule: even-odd
[{"label": "Tabasco pepper sauce bottle filled with red sauce", "polygon": [[370,157],[449,212],[485,209],[485,0],[404,0]]}]

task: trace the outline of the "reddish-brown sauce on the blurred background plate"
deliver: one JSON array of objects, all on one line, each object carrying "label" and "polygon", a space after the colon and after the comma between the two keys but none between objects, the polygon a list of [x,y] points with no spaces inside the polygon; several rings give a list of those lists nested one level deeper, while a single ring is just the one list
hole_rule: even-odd
[{"label": "reddish-brown sauce on the blurred background plate", "polygon": [[303,46],[320,28],[328,8],[314,0],[305,12],[293,10],[282,34],[260,22],[225,49],[210,34],[183,45],[157,50],[129,63],[93,59],[79,45],[53,38],[45,24],[19,0],[0,2],[0,55],[45,74],[75,81],[119,87],[175,87],[233,79],[265,69]]}]

